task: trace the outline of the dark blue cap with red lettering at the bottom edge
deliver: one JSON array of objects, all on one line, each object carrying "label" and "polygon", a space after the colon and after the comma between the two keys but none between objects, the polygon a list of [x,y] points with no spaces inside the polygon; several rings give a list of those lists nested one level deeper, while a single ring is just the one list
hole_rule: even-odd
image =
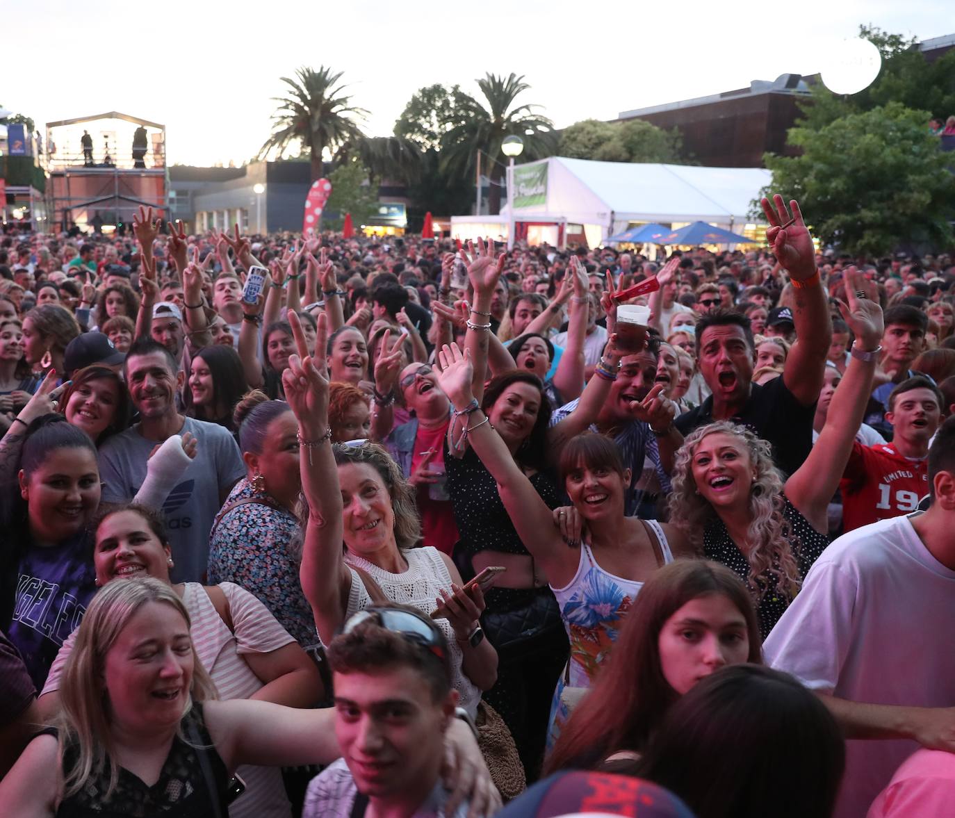
[{"label": "dark blue cap with red lettering at the bottom edge", "polygon": [[584,770],[558,772],[539,781],[498,813],[498,818],[557,818],[597,813],[632,818],[693,818],[669,790],[629,775]]}]

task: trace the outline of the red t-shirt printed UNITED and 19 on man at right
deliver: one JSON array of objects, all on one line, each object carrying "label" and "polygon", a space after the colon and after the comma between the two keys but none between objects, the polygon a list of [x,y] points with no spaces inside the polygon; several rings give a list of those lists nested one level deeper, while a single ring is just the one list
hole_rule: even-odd
[{"label": "red t-shirt printed UNITED and 19 on man at right", "polygon": [[847,532],[911,514],[928,493],[927,460],[903,457],[891,443],[863,446],[857,442],[839,489],[842,523]]}]

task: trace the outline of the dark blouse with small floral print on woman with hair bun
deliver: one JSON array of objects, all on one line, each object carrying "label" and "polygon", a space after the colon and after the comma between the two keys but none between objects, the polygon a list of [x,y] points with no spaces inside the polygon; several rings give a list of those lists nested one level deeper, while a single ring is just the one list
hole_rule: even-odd
[{"label": "dark blouse with small floral print on woman with hair bun", "polygon": [[[225,505],[257,493],[240,480]],[[223,506],[224,508],[224,506]],[[227,512],[209,542],[209,584],[235,582],[259,598],[302,647],[317,644],[315,620],[299,581],[298,519],[284,509],[245,503]]]}]

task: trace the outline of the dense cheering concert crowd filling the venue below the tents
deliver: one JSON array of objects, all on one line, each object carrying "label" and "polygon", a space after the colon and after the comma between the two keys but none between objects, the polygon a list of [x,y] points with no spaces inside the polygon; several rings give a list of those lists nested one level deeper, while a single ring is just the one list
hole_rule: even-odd
[{"label": "dense cheering concert crowd filling the venue below the tents", "polygon": [[762,207],[5,235],[4,809],[944,814],[955,264]]}]

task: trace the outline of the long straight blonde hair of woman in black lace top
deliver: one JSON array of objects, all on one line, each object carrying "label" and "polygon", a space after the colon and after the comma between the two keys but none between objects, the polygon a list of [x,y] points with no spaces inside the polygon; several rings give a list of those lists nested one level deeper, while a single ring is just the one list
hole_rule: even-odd
[{"label": "long straight blonde hair of woman in black lace top", "polygon": [[[109,787],[104,798],[109,799],[117,787],[119,768],[113,758],[109,691],[102,688],[103,672],[106,655],[120,633],[149,602],[172,605],[192,628],[189,612],[179,595],[171,585],[153,577],[107,583],[90,602],[79,625],[76,643],[63,668],[60,684],[62,706],[57,717],[60,758],[69,745],[78,751],[75,766],[65,771],[65,797],[74,795],[104,771],[109,773]],[[193,702],[215,699],[217,695],[215,685],[196,655],[195,645],[192,646],[192,655],[192,687],[183,716]]]}]

